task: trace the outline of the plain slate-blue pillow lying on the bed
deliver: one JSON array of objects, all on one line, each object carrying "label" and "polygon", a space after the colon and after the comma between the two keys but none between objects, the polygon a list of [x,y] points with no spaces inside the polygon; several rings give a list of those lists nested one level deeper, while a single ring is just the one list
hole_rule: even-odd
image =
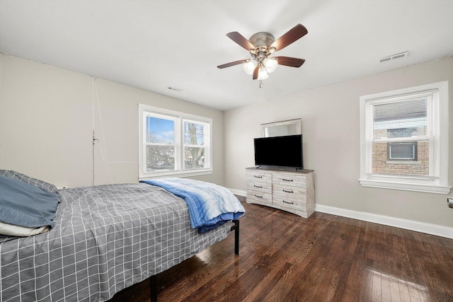
[{"label": "plain slate-blue pillow lying on the bed", "polygon": [[58,195],[0,175],[0,221],[35,228],[55,225]]}]

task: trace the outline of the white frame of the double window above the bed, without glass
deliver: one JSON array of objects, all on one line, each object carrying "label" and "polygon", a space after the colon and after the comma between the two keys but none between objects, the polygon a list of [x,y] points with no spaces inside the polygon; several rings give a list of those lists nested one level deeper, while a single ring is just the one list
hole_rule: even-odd
[{"label": "white frame of the double window above the bed, without glass", "polygon": [[[209,117],[200,117],[190,115],[184,112],[157,108],[149,105],[139,104],[139,180],[147,178],[158,178],[164,176],[171,177],[190,177],[197,175],[212,174],[212,119]],[[175,170],[152,171],[147,172],[146,169],[146,117],[147,113],[159,115],[163,118],[175,121]],[[206,124],[205,129],[205,168],[200,169],[184,169],[184,141],[183,141],[183,121],[190,120]]]}]

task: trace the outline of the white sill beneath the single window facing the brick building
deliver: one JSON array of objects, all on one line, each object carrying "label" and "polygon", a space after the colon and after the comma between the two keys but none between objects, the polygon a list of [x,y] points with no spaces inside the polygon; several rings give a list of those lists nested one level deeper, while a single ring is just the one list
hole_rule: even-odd
[{"label": "white sill beneath the single window facing the brick building", "polygon": [[360,185],[362,187],[378,187],[381,189],[391,190],[403,190],[403,191],[414,191],[414,192],[425,192],[435,194],[448,194],[452,187],[436,185],[433,183],[408,183],[408,182],[390,182],[386,180],[369,180],[360,179]]}]

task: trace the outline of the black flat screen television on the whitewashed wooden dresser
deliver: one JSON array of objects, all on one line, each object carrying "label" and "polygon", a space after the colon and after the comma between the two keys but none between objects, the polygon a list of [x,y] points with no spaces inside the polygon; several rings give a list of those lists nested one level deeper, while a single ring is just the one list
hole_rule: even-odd
[{"label": "black flat screen television on the whitewashed wooden dresser", "polygon": [[302,134],[253,140],[255,165],[304,168]]}]

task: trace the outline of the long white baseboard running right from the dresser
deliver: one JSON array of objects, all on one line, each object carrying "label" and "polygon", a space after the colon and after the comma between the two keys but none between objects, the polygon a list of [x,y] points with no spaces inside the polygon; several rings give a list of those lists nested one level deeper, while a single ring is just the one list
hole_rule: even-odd
[{"label": "long white baseboard running right from the dresser", "polygon": [[324,206],[323,204],[316,204],[315,211],[348,217],[352,219],[359,219],[362,221],[384,224],[385,226],[395,226],[396,228],[404,228],[410,231],[427,233],[430,235],[453,239],[453,228],[449,228],[447,226],[439,226],[437,224],[432,223],[400,219],[396,217],[372,214],[361,211],[352,211],[336,207],[328,207]]}]

